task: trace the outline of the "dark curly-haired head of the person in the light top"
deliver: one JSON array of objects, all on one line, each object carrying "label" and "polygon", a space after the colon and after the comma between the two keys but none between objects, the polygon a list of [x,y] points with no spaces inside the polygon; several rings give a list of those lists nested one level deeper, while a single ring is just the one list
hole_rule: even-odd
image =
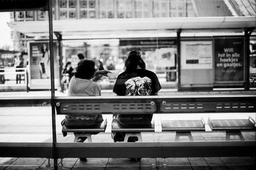
[{"label": "dark curly-haired head of the person in the light top", "polygon": [[91,79],[95,73],[95,62],[93,60],[81,60],[77,64],[76,78]]}]

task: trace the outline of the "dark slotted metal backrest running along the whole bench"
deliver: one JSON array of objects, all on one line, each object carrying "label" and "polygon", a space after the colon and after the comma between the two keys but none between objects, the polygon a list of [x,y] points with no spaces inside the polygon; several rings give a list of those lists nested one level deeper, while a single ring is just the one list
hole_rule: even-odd
[{"label": "dark slotted metal backrest running along the whole bench", "polygon": [[256,97],[101,97],[101,99],[56,99],[58,115],[148,114],[148,113],[237,113],[256,112]]}]

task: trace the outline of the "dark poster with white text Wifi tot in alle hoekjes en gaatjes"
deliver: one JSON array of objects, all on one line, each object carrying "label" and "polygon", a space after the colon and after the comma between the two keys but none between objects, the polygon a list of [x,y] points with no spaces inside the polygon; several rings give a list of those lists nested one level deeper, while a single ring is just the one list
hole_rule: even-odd
[{"label": "dark poster with white text Wifi tot in alle hoekjes en gaatjes", "polygon": [[214,39],[215,82],[244,81],[244,39]]}]

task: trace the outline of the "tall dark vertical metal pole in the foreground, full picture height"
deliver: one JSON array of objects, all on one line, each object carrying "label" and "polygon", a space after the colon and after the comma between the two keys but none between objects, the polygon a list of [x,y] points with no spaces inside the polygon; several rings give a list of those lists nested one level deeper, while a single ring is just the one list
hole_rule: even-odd
[{"label": "tall dark vertical metal pole in the foreground, full picture height", "polygon": [[49,40],[50,40],[50,59],[51,59],[51,109],[52,109],[52,157],[54,169],[58,169],[58,159],[56,158],[56,116],[54,107],[55,86],[54,86],[54,55],[53,55],[53,29],[52,29],[52,1],[49,3]]}]

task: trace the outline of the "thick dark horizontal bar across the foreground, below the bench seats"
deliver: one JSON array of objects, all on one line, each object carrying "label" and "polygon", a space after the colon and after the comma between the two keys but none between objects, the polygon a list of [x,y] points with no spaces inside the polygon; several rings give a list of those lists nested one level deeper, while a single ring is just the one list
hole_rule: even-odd
[{"label": "thick dark horizontal bar across the foreground, below the bench seats", "polygon": [[[57,158],[253,157],[255,141],[56,143]],[[52,143],[0,143],[0,157],[52,158]]]}]

